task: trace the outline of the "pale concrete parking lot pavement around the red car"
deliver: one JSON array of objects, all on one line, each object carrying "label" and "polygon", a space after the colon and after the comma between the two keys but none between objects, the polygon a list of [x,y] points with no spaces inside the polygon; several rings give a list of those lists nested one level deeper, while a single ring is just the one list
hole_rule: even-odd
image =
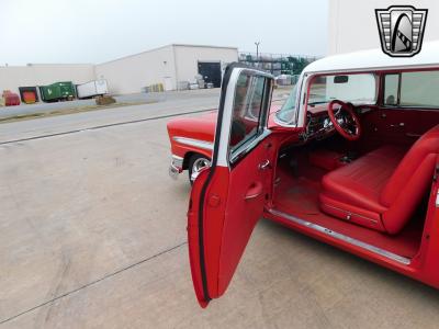
[{"label": "pale concrete parking lot pavement around the red car", "polygon": [[268,220],[199,307],[166,123],[217,97],[0,125],[0,327],[437,328],[434,288]]}]

